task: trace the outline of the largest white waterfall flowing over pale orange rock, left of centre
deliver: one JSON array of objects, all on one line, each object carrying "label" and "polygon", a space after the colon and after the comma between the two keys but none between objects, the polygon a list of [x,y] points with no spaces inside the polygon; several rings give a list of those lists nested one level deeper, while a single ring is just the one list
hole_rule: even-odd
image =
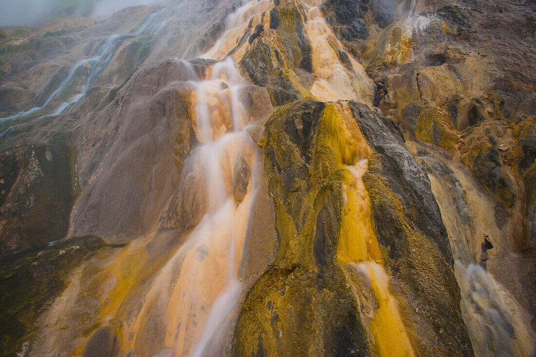
[{"label": "largest white waterfall flowing over pale orange rock, left of centre", "polygon": [[[239,302],[243,285],[237,268],[259,170],[258,148],[247,132],[240,97],[244,79],[231,59],[207,72],[207,79],[188,82],[201,144],[183,172],[183,178],[200,173],[205,214],[153,279],[129,327],[133,334],[143,331],[152,306],[159,305],[169,316],[165,345],[192,356],[203,354]],[[236,192],[240,180],[246,192]]]}]

